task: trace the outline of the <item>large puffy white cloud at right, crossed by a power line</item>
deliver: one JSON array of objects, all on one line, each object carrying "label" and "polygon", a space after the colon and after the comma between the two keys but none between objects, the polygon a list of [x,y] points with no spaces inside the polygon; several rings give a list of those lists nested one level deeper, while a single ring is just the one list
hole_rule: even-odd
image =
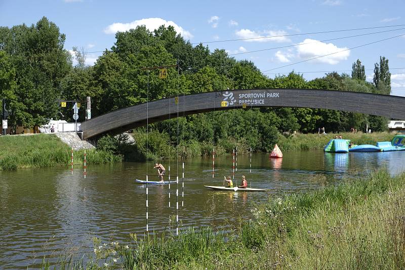
[{"label": "large puffy white cloud at right, crossed by a power line", "polygon": [[320,57],[318,59],[313,60],[313,62],[327,63],[330,65],[336,65],[342,60],[347,60],[347,58],[350,55],[350,50],[340,52],[343,50],[347,50],[347,48],[346,47],[338,48],[336,45],[332,43],[319,42],[318,40],[310,38],[306,38],[303,42],[299,43],[299,45],[297,46],[298,57],[302,59],[311,59],[334,53],[333,55]]}]

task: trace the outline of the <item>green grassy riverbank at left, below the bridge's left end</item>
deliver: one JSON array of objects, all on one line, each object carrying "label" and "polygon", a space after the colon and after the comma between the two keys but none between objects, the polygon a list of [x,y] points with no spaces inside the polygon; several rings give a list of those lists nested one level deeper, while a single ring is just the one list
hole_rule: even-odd
[{"label": "green grassy riverbank at left, below the bridge's left end", "polygon": [[[71,148],[51,134],[0,137],[0,170],[68,166]],[[103,150],[87,150],[87,163],[119,162],[121,156]],[[73,164],[83,163],[84,150],[74,151]]]}]

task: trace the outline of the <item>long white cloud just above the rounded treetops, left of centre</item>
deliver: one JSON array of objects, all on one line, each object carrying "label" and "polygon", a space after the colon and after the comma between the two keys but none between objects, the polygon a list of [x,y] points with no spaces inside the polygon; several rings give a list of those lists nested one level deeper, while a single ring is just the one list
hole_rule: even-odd
[{"label": "long white cloud just above the rounded treetops, left of centre", "polygon": [[161,18],[146,18],[146,19],[141,19],[141,20],[136,20],[130,23],[113,23],[108,25],[104,29],[104,33],[106,34],[114,34],[116,32],[125,32],[128,31],[129,29],[134,29],[137,26],[140,25],[145,25],[149,31],[153,31],[154,29],[157,29],[160,25],[165,25],[168,27],[169,25],[173,26],[174,29],[176,30],[177,33],[180,33],[184,38],[192,38],[193,35],[183,29],[181,26],[177,25],[173,21],[166,21]]}]

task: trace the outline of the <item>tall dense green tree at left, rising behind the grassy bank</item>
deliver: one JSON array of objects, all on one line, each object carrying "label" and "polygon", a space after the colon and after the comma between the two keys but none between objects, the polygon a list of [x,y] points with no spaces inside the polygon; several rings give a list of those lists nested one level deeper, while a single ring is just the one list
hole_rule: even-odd
[{"label": "tall dense green tree at left, rising behind the grassy bank", "polygon": [[65,35],[46,17],[30,27],[25,24],[0,29],[0,47],[15,67],[16,91],[12,113],[25,127],[42,125],[55,117],[59,84],[71,69],[71,56],[63,49]]}]

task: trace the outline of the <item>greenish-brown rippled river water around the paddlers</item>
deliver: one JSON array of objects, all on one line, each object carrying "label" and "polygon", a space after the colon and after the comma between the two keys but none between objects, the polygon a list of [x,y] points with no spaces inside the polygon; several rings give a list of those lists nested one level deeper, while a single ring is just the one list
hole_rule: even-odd
[{"label": "greenish-brown rippled river water around the paddlers", "polygon": [[[163,162],[168,174],[168,161]],[[181,176],[181,162],[179,162]],[[282,159],[266,154],[238,156],[235,182],[245,174],[252,188],[268,193],[218,192],[204,185],[222,186],[223,175],[232,175],[232,157],[216,158],[215,178],[212,160],[185,160],[184,207],[179,184],[180,230],[189,226],[232,226],[239,217],[249,218],[254,203],[266,202],[282,194],[318,189],[344,178],[363,178],[368,172],[386,166],[395,175],[405,170],[405,151],[382,153],[332,154],[322,151],[285,153]],[[153,174],[148,163],[148,173]],[[143,235],[145,186],[134,179],[145,179],[146,163],[124,162],[88,166],[83,177],[77,166],[70,168],[19,169],[0,171],[0,268],[26,269],[38,266],[44,255],[60,251],[91,250],[92,237],[104,241],[127,241],[129,233]],[[171,175],[177,174],[171,161]],[[325,177],[316,177],[316,175]],[[151,176],[153,178],[153,176]],[[157,177],[154,176],[154,180]],[[149,185],[149,230],[168,230],[176,214],[176,185]],[[176,224],[174,224],[176,226]],[[84,248],[84,249],[83,249]],[[36,259],[35,259],[36,258]]]}]

